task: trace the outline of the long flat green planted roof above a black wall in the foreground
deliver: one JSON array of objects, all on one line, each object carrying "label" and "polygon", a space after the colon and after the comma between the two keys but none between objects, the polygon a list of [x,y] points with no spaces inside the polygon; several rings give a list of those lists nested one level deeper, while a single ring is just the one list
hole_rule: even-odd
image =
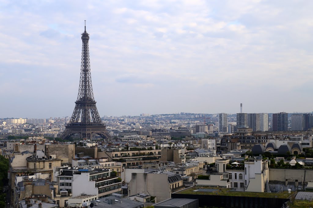
[{"label": "long flat green planted roof above a black wall in the foreground", "polygon": [[[216,189],[216,191],[213,192],[194,191],[197,189]],[[294,191],[291,191],[291,193],[289,194],[288,191],[283,191],[279,193],[267,193],[267,192],[247,192],[231,190],[232,190],[231,188],[221,188],[216,186],[192,186],[190,188],[177,192],[177,194],[248,196],[248,197],[280,198],[280,199],[287,199],[289,196],[294,194]]]}]

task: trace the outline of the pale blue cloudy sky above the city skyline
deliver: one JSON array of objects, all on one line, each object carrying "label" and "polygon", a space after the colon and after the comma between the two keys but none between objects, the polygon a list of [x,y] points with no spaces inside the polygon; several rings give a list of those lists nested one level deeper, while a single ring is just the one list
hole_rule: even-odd
[{"label": "pale blue cloudy sky above the city skyline", "polygon": [[313,1],[0,0],[0,118],[311,112]]}]

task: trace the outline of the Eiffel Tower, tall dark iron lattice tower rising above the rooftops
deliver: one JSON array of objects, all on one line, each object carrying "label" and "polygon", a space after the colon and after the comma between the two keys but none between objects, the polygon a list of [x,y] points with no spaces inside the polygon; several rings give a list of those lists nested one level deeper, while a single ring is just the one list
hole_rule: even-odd
[{"label": "Eiffel Tower, tall dark iron lattice tower rising above the rooftops", "polygon": [[61,138],[66,139],[74,134],[80,138],[91,139],[98,134],[102,138],[110,139],[110,135],[101,122],[94,94],[92,91],[90,60],[89,60],[89,34],[85,31],[81,34],[83,47],[81,51],[81,68],[80,68],[80,85],[78,90],[77,101],[73,115],[69,123],[65,126]]}]

